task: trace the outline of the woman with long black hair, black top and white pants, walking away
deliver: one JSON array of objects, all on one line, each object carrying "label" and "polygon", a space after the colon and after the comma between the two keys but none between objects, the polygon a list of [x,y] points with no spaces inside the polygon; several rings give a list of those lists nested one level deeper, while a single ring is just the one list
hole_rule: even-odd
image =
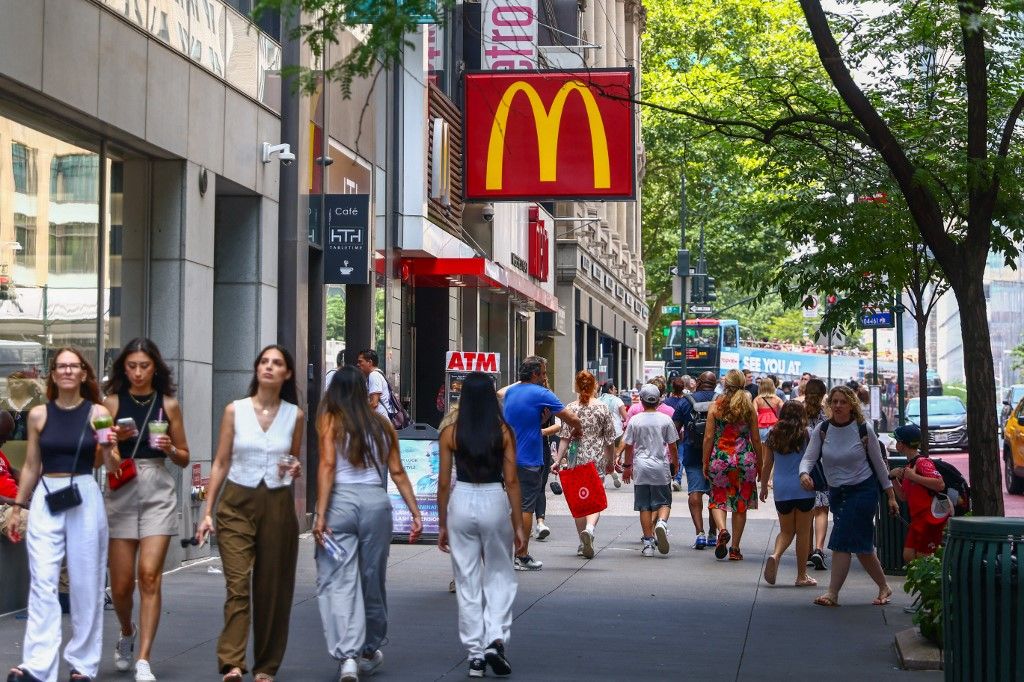
[{"label": "woman with long black hair, black top and white pants, walking away", "polygon": [[463,382],[459,417],[441,431],[439,444],[437,545],[452,553],[459,636],[468,651],[469,676],[483,677],[486,666],[495,675],[509,675],[505,645],[516,593],[512,550],[514,543],[521,552],[526,538],[518,513],[515,436],[502,417],[489,376],[474,372]]}]

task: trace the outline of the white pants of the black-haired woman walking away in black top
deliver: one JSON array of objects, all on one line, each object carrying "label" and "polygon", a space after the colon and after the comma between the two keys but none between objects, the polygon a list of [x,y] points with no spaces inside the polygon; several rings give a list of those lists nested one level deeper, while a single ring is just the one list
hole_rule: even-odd
[{"label": "white pants of the black-haired woman walking away in black top", "polygon": [[469,658],[500,639],[509,641],[516,578],[512,510],[501,483],[459,481],[449,500],[449,545],[459,598],[459,637]]}]

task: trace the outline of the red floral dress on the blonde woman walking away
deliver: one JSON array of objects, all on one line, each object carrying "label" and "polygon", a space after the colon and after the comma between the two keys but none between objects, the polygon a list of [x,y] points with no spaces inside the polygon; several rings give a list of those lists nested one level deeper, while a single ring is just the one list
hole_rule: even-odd
[{"label": "red floral dress on the blonde woman walking away", "polygon": [[715,446],[709,463],[711,507],[745,512],[757,495],[758,458],[748,424],[715,420]]}]

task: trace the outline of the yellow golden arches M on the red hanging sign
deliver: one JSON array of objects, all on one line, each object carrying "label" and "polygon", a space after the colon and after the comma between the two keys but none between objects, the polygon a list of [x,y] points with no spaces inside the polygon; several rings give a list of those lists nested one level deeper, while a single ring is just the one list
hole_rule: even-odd
[{"label": "yellow golden arches M on the red hanging sign", "polygon": [[568,81],[555,95],[549,110],[544,105],[541,96],[534,86],[524,81],[516,81],[505,90],[498,110],[495,112],[494,123],[490,124],[490,139],[487,142],[486,188],[501,189],[502,174],[505,167],[505,131],[508,126],[509,111],[512,100],[519,93],[529,99],[534,113],[534,127],[537,130],[537,150],[540,156],[541,182],[554,182],[558,173],[558,131],[561,128],[562,112],[565,100],[577,92],[587,108],[587,122],[590,124],[590,145],[594,156],[594,188],[604,189],[611,186],[611,170],[608,161],[608,138],[604,133],[604,119],[601,110],[594,100],[594,94],[582,81]]}]

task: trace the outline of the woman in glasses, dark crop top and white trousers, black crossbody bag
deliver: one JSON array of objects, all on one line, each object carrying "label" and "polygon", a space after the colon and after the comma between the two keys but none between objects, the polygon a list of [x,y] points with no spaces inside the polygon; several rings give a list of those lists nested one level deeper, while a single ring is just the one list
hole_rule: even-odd
[{"label": "woman in glasses, dark crop top and white trousers, black crossbody bag", "polygon": [[[106,564],[106,514],[92,470],[101,462],[108,469],[121,460],[117,439],[97,446],[93,423],[110,419],[99,404],[96,375],[81,351],[61,348],[50,358],[46,378],[47,403],[29,413],[29,444],[15,509],[5,528],[16,528],[23,509],[30,509],[27,532],[32,587],[29,621],[25,629],[24,658],[11,669],[8,680],[55,680],[60,642],[60,603],[57,582],[60,562],[68,557],[71,578],[72,642],[65,651],[71,679],[91,680],[99,670],[102,652],[103,580]],[[43,489],[36,492],[42,479]],[[81,502],[51,512],[45,498],[67,487],[77,487]],[[34,494],[35,493],[35,494]]]}]

